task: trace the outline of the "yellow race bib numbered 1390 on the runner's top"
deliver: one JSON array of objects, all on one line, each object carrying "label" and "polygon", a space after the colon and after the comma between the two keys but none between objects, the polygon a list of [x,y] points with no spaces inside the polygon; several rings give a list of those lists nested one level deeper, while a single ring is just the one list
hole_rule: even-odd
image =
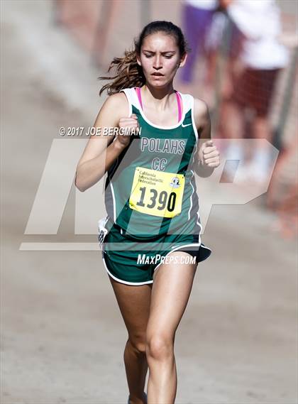
[{"label": "yellow race bib numbered 1390 on the runner's top", "polygon": [[175,217],[181,213],[184,175],[136,167],[129,207],[145,214]]}]

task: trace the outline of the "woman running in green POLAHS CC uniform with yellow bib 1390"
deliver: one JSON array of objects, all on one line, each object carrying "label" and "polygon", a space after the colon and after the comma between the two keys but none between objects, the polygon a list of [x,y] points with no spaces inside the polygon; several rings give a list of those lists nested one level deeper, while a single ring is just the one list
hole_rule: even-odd
[{"label": "woman running in green POLAHS CC uniform with yellow bib 1390", "polygon": [[[113,80],[101,88],[109,94],[94,124],[101,134],[89,139],[77,165],[82,192],[107,172],[99,245],[128,330],[130,404],[175,402],[175,332],[197,264],[211,254],[201,242],[194,172],[211,175],[219,151],[206,104],[173,87],[186,58],[179,27],[145,26],[135,49],[111,62],[116,75],[100,77]],[[105,128],[115,130],[104,136]]]}]

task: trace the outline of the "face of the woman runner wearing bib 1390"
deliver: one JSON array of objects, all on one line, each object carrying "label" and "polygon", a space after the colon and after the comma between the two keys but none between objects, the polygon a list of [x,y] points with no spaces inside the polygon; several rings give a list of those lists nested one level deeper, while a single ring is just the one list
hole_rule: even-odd
[{"label": "face of the woman runner wearing bib 1390", "polygon": [[180,53],[175,38],[163,33],[146,36],[137,61],[143,67],[148,84],[164,87],[174,79],[180,65]]}]

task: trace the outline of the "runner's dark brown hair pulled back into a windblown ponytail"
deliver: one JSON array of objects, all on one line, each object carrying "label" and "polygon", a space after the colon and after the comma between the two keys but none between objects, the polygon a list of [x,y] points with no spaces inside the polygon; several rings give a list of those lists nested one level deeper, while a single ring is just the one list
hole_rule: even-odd
[{"label": "runner's dark brown hair pulled back into a windblown ponytail", "polygon": [[138,65],[136,55],[140,55],[140,48],[143,45],[145,37],[158,32],[165,33],[175,38],[180,51],[180,58],[190,50],[178,26],[175,26],[175,24],[170,21],[153,21],[145,26],[140,36],[134,40],[135,46],[133,50],[126,50],[123,58],[114,58],[112,60],[108,73],[112,69],[116,69],[115,75],[113,77],[98,77],[99,80],[114,80],[101,87],[99,95],[101,95],[105,89],[107,93],[111,95],[119,92],[123,88],[142,87],[145,84],[143,69]]}]

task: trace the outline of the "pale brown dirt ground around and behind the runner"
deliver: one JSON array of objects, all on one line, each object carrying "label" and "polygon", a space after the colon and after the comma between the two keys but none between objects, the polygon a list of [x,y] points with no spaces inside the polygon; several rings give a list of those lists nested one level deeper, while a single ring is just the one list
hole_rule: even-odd
[{"label": "pale brown dirt ground around and behind the runner", "polygon": [[[1,403],[124,404],[127,333],[99,251],[21,251],[60,126],[90,126],[98,69],[50,1],[1,1]],[[204,197],[204,196],[203,196]],[[297,247],[258,197],[215,205],[177,331],[177,404],[297,403]],[[74,236],[75,188],[57,236]]]}]

